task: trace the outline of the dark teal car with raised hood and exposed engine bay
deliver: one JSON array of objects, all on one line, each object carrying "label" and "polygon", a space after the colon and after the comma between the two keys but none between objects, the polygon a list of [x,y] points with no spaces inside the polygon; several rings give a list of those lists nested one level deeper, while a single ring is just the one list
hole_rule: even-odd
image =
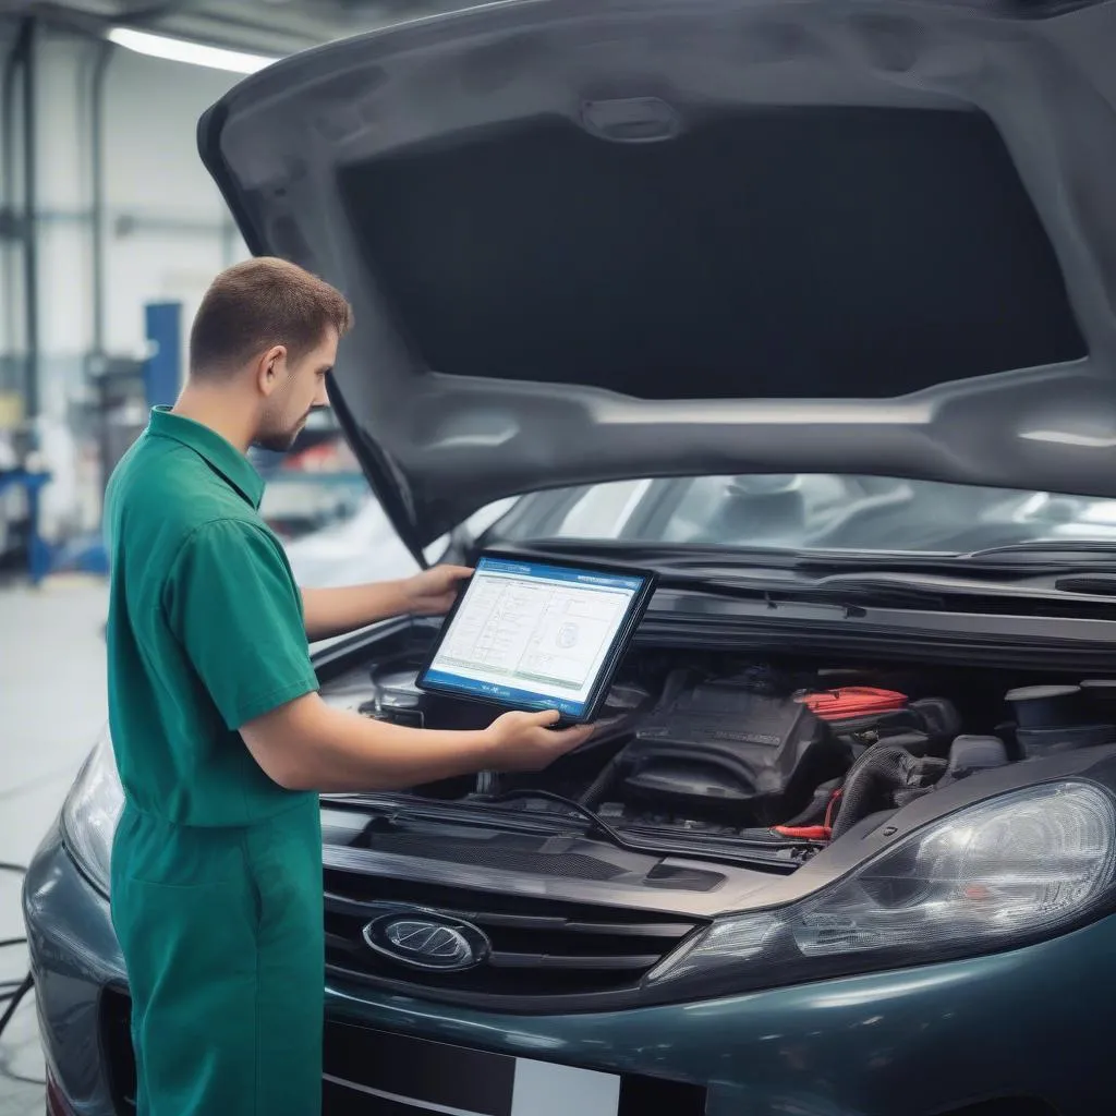
[{"label": "dark teal car with raised hood and exposed engine bay", "polygon": [[[354,301],[414,562],[658,574],[583,748],[323,797],[327,1114],[1112,1103],[1114,48],[1088,0],[508,2],[203,117],[251,250]],[[437,631],[324,696],[483,723]],[[132,1105],[119,805],[105,738],[25,884],[65,1116]]]}]

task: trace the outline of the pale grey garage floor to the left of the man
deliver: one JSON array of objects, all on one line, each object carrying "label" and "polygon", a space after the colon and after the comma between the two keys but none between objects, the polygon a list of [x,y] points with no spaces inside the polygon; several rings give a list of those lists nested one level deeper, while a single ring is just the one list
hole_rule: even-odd
[{"label": "pale grey garage floor to the left of the man", "polygon": [[[0,860],[27,864],[105,720],[103,583],[0,585]],[[18,877],[0,874],[0,939],[23,933]],[[0,950],[0,981],[27,971]],[[42,1116],[42,1058],[28,997],[0,1039],[0,1116]]]}]

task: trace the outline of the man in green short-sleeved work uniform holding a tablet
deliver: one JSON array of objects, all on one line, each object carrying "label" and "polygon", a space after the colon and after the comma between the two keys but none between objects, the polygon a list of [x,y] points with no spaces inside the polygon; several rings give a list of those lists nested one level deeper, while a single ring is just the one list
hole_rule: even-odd
[{"label": "man in green short-sleeved work uniform holding a tablet", "polygon": [[125,791],[112,908],[127,964],[140,1116],[314,1116],[324,944],[317,791],[535,769],[587,738],[557,714],[482,732],[328,708],[308,639],[441,614],[468,570],[302,590],[259,516],[246,451],[286,450],[326,404],[350,324],[280,260],[222,273],[190,377],[113,474],[109,720]]}]

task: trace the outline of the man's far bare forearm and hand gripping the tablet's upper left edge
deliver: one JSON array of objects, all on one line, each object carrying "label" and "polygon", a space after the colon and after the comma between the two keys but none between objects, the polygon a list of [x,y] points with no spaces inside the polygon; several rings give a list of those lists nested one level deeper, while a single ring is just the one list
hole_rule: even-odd
[{"label": "man's far bare forearm and hand gripping the tablet's upper left edge", "polygon": [[301,589],[306,637],[328,639],[391,616],[439,616],[453,604],[463,566],[435,566],[398,581],[376,581],[343,589]]}]

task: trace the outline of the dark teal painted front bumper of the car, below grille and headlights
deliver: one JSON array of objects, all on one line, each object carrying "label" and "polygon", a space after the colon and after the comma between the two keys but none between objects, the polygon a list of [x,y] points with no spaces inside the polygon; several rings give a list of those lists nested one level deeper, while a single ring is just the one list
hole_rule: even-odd
[{"label": "dark teal painted front bumper of the car, below grille and headlights", "polygon": [[[25,914],[50,1070],[79,1116],[124,1116],[104,997],[125,989],[123,959],[57,830]],[[937,1116],[1000,1097],[1093,1116],[1112,1096],[1114,952],[1108,918],[994,956],[689,1004],[493,1014],[331,982],[326,1010],[335,1027],[700,1085],[708,1116]]]}]

